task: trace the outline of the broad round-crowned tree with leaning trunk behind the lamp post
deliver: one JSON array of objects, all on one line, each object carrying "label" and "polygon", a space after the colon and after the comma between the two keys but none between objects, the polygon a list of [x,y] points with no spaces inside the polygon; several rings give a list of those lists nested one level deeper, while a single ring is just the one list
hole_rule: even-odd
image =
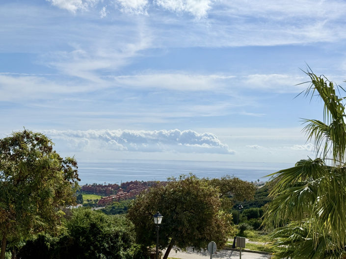
[{"label": "broad round-crowned tree with leaning trunk behind the lamp post", "polygon": [[213,240],[222,247],[232,227],[231,216],[220,210],[219,194],[219,188],[192,175],[172,178],[166,186],[151,187],[129,208],[128,217],[133,222],[137,241],[146,246],[156,243],[153,215],[160,211],[163,220],[159,247],[168,246],[163,259],[167,259],[173,245],[200,250]]}]

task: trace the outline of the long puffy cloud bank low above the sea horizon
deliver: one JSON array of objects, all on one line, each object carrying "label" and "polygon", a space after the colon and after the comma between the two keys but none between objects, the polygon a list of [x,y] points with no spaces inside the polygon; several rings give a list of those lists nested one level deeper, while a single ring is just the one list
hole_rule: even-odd
[{"label": "long puffy cloud bank low above the sea horizon", "polygon": [[193,130],[43,130],[72,152],[107,149],[131,152],[180,152],[234,154],[216,135]]}]

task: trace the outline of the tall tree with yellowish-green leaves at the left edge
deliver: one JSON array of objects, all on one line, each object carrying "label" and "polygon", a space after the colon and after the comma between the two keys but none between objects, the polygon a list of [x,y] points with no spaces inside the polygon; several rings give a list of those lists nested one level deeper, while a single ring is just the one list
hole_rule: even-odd
[{"label": "tall tree with yellowish-green leaves at the left edge", "polygon": [[78,181],[75,159],[61,158],[47,136],[25,129],[0,139],[0,259],[7,240],[59,231]]}]

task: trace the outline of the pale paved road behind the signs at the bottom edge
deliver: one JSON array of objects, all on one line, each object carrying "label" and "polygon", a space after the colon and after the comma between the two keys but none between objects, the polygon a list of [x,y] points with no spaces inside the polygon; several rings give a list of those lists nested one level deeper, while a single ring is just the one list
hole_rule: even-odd
[{"label": "pale paved road behind the signs at the bottom edge", "polygon": [[[163,251],[164,254],[165,251]],[[208,251],[196,253],[191,248],[186,249],[186,252],[176,253],[173,249],[169,253],[168,257],[180,258],[180,259],[210,259]],[[220,250],[213,258],[217,259],[239,259],[239,252],[230,250]],[[269,259],[269,255],[262,255],[256,253],[241,252],[241,259]]]}]

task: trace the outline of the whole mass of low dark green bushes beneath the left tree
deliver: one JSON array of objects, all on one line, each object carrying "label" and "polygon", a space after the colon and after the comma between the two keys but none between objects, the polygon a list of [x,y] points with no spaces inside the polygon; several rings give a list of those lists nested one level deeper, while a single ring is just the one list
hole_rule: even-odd
[{"label": "whole mass of low dark green bushes beneath the left tree", "polygon": [[134,233],[125,217],[107,216],[91,209],[73,209],[59,237],[39,235],[20,250],[21,259],[130,259]]}]

